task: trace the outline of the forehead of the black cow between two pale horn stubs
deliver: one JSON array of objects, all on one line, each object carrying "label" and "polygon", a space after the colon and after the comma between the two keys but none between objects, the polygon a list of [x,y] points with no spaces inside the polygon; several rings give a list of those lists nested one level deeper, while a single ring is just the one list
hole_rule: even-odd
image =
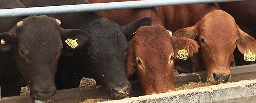
[{"label": "forehead of the black cow between two pale horn stubs", "polygon": [[[31,16],[23,20],[21,28],[17,28],[17,42],[20,47],[49,49],[61,46],[60,27],[54,18],[47,16]],[[26,45],[26,46],[25,46]],[[58,47],[56,47],[58,46]],[[52,49],[51,49],[52,50]]]}]

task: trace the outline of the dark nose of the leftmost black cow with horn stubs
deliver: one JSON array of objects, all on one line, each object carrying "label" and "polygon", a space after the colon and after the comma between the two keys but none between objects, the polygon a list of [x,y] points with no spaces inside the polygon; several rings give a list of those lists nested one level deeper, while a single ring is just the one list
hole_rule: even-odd
[{"label": "dark nose of the leftmost black cow with horn stubs", "polygon": [[56,92],[56,87],[49,87],[48,89],[31,88],[30,96],[33,100],[44,101],[51,98]]}]

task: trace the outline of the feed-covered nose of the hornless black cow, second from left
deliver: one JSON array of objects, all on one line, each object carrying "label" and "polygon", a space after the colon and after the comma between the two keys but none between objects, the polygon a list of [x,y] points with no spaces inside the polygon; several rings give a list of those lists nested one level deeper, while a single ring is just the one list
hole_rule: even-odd
[{"label": "feed-covered nose of the hornless black cow, second from left", "polygon": [[131,86],[126,83],[115,84],[111,86],[110,94],[114,98],[122,98],[129,95]]}]

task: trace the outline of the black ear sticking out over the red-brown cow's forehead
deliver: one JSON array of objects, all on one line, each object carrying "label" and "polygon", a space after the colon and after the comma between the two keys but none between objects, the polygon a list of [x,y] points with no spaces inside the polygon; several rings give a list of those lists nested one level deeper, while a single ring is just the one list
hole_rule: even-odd
[{"label": "black ear sticking out over the red-brown cow's forehead", "polygon": [[142,17],[137,19],[136,21],[122,27],[123,33],[128,41],[133,38],[132,34],[141,26],[148,26],[152,24],[152,19],[150,17]]}]

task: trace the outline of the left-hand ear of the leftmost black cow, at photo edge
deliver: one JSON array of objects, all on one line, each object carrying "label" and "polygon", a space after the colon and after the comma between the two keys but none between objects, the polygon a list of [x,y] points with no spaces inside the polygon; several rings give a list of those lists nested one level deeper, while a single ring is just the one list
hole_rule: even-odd
[{"label": "left-hand ear of the leftmost black cow, at photo edge", "polygon": [[0,34],[0,52],[8,52],[14,46],[15,36],[11,33]]}]

